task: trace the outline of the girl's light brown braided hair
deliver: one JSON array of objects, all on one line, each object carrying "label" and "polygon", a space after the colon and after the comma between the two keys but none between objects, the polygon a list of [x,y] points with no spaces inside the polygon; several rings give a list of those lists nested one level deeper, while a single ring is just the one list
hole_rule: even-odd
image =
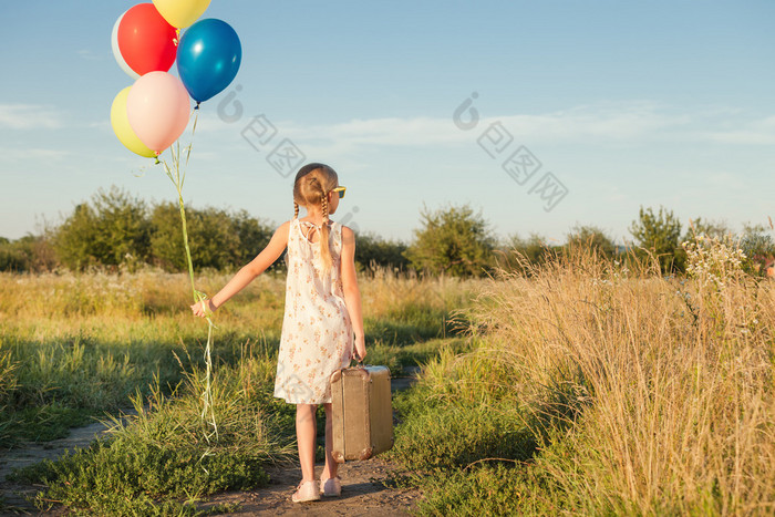
[{"label": "girl's light brown braided hair", "polygon": [[299,205],[320,206],[323,224],[320,227],[320,258],[324,272],[331,270],[333,258],[329,247],[328,194],[339,185],[337,172],[323,164],[307,164],[299,169],[293,182],[293,217],[299,216]]}]

